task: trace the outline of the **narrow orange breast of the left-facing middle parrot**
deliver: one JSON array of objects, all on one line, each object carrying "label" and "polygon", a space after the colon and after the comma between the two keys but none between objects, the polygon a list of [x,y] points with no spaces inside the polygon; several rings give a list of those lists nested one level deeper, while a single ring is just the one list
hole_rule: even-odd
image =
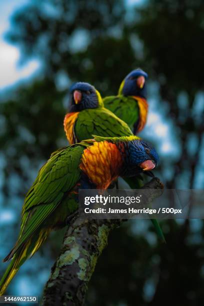
[{"label": "narrow orange breast of the left-facing middle parrot", "polygon": [[66,133],[66,138],[70,144],[75,143],[75,134],[74,134],[74,123],[77,119],[79,112],[69,112],[64,117],[64,131]]}]

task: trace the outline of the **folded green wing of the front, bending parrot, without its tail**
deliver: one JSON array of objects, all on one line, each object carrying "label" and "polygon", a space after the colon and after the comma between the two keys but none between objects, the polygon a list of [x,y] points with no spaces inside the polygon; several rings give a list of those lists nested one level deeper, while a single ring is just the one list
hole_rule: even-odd
[{"label": "folded green wing of the front, bending parrot, without its tail", "polygon": [[83,144],[62,148],[52,153],[41,167],[25,196],[20,235],[11,256],[36,230],[44,226],[46,219],[61,204],[64,194],[79,180],[79,164],[83,150]]}]

